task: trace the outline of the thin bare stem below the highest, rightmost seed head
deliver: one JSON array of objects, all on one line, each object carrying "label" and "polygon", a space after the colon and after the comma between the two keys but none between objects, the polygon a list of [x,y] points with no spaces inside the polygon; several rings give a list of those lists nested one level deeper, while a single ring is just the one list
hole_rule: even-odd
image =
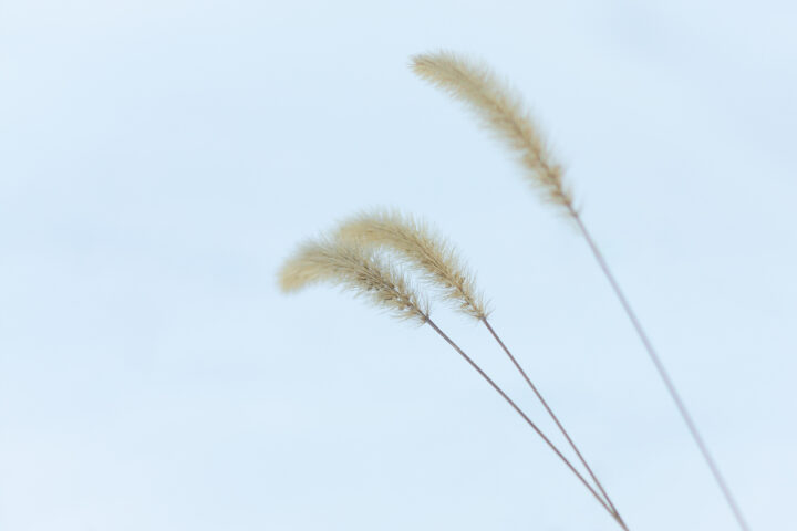
[{"label": "thin bare stem below the highest, rightmost seed head", "polygon": [[722,473],[720,473],[720,468],[717,467],[716,462],[714,461],[714,458],[712,457],[711,452],[708,451],[708,447],[705,445],[703,437],[701,436],[700,431],[697,431],[697,426],[695,425],[694,420],[692,419],[692,415],[686,409],[686,405],[684,404],[683,399],[681,398],[681,395],[679,394],[677,389],[675,388],[675,384],[673,383],[672,378],[670,377],[670,374],[664,368],[664,364],[662,363],[661,358],[659,357],[659,354],[656,354],[656,351],[653,348],[653,344],[651,343],[650,339],[648,337],[648,334],[642,329],[642,324],[640,323],[639,319],[636,317],[636,313],[631,308],[631,304],[628,302],[628,299],[625,299],[625,295],[623,294],[622,290],[620,289],[620,284],[614,279],[614,275],[612,274],[611,270],[609,269],[609,264],[607,263],[605,259],[603,258],[603,254],[601,253],[600,249],[596,244],[594,240],[592,239],[592,236],[587,230],[587,227],[584,226],[583,221],[581,220],[581,217],[578,215],[578,212],[573,209],[570,209],[570,214],[572,215],[576,225],[579,228],[579,231],[583,236],[583,238],[587,240],[587,243],[590,247],[590,250],[592,251],[592,254],[594,256],[594,259],[598,261],[598,264],[600,266],[601,270],[603,271],[603,274],[605,275],[607,280],[612,287],[612,290],[614,290],[614,294],[620,300],[620,304],[623,306],[623,310],[625,311],[625,314],[628,315],[629,320],[631,321],[631,324],[633,325],[634,330],[636,331],[636,335],[639,335],[640,340],[642,341],[642,344],[645,347],[645,351],[648,351],[648,355],[650,356],[651,361],[653,362],[653,365],[655,365],[656,371],[659,372],[659,375],[664,381],[664,385],[666,386],[667,392],[670,393],[670,396],[672,397],[673,402],[675,402],[675,405],[677,406],[679,412],[681,413],[681,417],[683,418],[684,423],[686,424],[686,427],[689,428],[690,433],[692,434],[692,438],[697,444],[697,447],[700,448],[701,454],[703,455],[703,459],[705,459],[706,465],[708,465],[708,468],[714,476],[714,480],[720,486],[720,489],[722,490],[723,494],[725,496],[725,500],[727,501],[728,506],[731,507],[731,510],[734,513],[734,517],[736,517],[736,521],[738,522],[739,527],[744,531],[749,531],[749,527],[747,525],[747,522],[742,514],[742,509],[739,508],[738,503],[736,502],[735,498],[731,493],[731,488],[727,486],[727,482],[723,478]]}]

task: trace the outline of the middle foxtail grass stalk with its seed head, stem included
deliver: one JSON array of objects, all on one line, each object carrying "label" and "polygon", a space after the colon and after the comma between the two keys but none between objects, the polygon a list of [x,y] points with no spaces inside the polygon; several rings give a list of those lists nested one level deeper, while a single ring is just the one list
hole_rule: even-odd
[{"label": "middle foxtail grass stalk with its seed head, stem included", "polygon": [[542,404],[559,431],[565,436],[568,445],[573,449],[609,504],[610,512],[613,513],[623,529],[628,529],[603,485],[592,471],[570,434],[565,429],[548,402],[542,397],[542,394],[537,389],[537,386],[531,382],[520,363],[490,325],[487,320],[489,312],[486,309],[484,296],[476,290],[474,275],[467,270],[465,262],[459,258],[454,246],[434,233],[428,223],[413,216],[402,215],[398,210],[382,209],[360,214],[342,222],[338,228],[337,236],[361,246],[384,247],[398,253],[424,280],[442,291],[446,301],[452,302],[462,313],[480,321],[485,325],[515,368],[524,377],[535,396],[537,396],[537,399]]}]

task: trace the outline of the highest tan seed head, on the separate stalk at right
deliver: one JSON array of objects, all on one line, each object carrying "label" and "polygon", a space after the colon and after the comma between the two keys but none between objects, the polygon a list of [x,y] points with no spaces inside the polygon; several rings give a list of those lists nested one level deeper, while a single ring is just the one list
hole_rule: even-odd
[{"label": "highest tan seed head, on the separate stalk at right", "polygon": [[563,181],[562,166],[555,160],[520,96],[487,65],[442,51],[413,56],[412,70],[465,103],[479,123],[517,156],[542,198],[565,208],[569,216],[575,215],[572,192]]}]

